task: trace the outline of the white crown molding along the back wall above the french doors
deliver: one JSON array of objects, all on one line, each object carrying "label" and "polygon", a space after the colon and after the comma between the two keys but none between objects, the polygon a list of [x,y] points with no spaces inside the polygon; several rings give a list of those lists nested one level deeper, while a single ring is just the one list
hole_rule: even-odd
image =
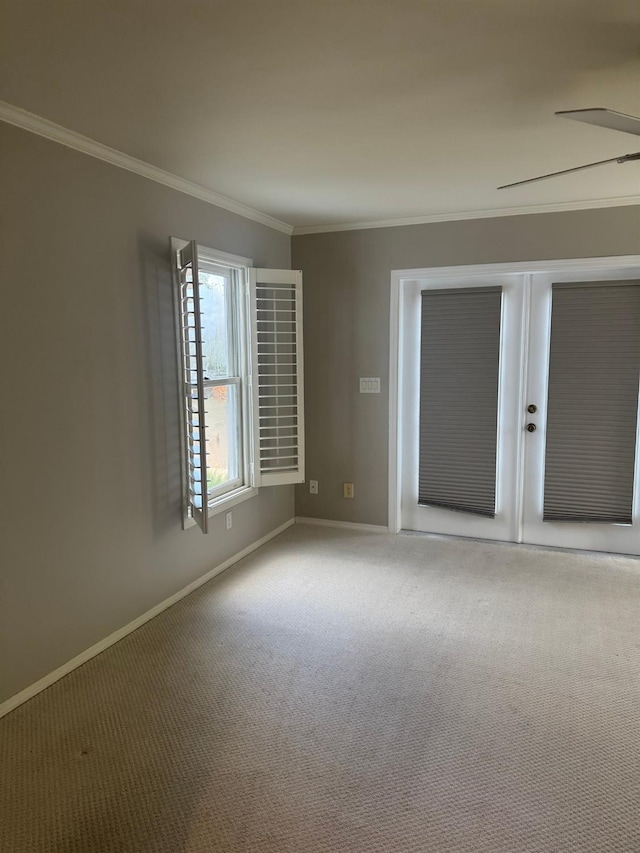
[{"label": "white crown molding along the back wall above the french doors", "polygon": [[497,219],[501,216],[527,216],[533,213],[565,213],[571,210],[594,210],[602,207],[628,207],[640,204],[640,195],[592,198],[584,201],[528,204],[520,207],[496,207],[482,210],[461,210],[451,213],[431,213],[399,219],[372,219],[363,222],[343,222],[334,225],[295,225],[293,236],[327,234],[332,231],[363,231],[367,228],[398,228],[404,225],[428,225],[432,222],[458,222],[464,219]]}]

